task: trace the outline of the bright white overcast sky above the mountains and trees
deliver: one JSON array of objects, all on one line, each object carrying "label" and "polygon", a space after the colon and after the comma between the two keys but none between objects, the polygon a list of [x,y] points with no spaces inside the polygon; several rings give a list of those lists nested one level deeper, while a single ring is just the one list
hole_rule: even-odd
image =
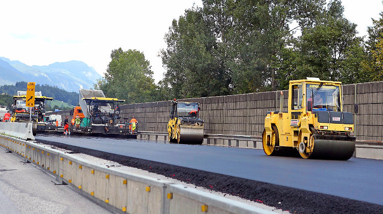
[{"label": "bright white overcast sky above the mountains and trees", "polygon": [[[344,15],[367,35],[381,0],[343,0]],[[165,71],[159,51],[173,19],[202,0],[163,1],[2,1],[0,57],[27,65],[83,61],[103,75],[113,49],[144,53],[155,82]]]}]

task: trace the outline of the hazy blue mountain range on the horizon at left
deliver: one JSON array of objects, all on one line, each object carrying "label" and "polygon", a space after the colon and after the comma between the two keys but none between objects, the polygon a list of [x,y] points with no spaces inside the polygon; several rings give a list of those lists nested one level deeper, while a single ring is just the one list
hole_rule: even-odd
[{"label": "hazy blue mountain range on the horizon at left", "polygon": [[93,87],[96,80],[101,77],[93,67],[81,61],[29,66],[20,61],[0,57],[0,85],[36,82],[36,84],[57,86],[60,89],[78,93],[80,88]]}]

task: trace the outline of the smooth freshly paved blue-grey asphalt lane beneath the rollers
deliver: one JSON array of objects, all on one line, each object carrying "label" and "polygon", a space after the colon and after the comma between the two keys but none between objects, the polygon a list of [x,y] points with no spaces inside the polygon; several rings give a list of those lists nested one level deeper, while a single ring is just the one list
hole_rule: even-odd
[{"label": "smooth freshly paved blue-grey asphalt lane beneath the rollers", "polygon": [[39,139],[383,205],[381,160],[274,157],[258,149],[134,139],[36,136]]}]

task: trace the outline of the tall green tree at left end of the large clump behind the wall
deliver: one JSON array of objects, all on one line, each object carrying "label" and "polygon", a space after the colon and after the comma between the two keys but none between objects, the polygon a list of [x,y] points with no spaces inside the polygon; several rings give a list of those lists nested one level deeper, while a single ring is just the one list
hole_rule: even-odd
[{"label": "tall green tree at left end of the large clump behind the wall", "polygon": [[173,20],[165,36],[166,50],[161,50],[166,68],[163,85],[176,98],[229,94],[231,83],[220,58],[219,44],[213,29],[204,19],[203,9],[187,10]]}]

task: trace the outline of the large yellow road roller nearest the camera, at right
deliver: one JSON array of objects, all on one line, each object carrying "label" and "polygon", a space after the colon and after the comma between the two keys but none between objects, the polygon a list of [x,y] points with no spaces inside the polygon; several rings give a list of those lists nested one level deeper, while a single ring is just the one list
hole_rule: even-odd
[{"label": "large yellow road roller nearest the camera, at right", "polygon": [[341,84],[319,78],[290,81],[288,111],[267,112],[265,153],[349,159],[355,149],[354,124],[352,113],[343,112]]}]

